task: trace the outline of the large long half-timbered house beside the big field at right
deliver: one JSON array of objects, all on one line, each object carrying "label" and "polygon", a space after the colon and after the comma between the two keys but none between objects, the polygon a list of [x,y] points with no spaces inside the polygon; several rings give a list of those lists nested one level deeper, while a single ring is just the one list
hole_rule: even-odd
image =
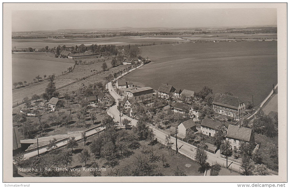
[{"label": "large long half-timbered house beside the big field at right", "polygon": [[246,109],[245,103],[238,97],[217,94],[213,100],[213,111],[229,117],[239,118]]}]

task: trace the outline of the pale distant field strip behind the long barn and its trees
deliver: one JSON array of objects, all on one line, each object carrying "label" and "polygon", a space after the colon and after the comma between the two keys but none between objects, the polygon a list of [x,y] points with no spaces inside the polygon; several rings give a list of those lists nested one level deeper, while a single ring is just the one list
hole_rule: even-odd
[{"label": "pale distant field strip behind the long barn and its trees", "polygon": [[[182,39],[179,39],[182,40]],[[186,41],[186,40],[184,40]],[[176,42],[175,39],[170,39],[166,37],[162,38],[154,38],[154,39],[144,39],[142,37],[108,37],[108,38],[63,38],[63,39],[13,39],[12,47],[16,47],[17,49],[21,48],[44,48],[48,46],[49,48],[57,47],[58,45],[66,45],[66,46],[76,46],[76,45],[126,45],[126,44],[150,44],[155,42],[155,44],[161,44],[166,42]]]}]

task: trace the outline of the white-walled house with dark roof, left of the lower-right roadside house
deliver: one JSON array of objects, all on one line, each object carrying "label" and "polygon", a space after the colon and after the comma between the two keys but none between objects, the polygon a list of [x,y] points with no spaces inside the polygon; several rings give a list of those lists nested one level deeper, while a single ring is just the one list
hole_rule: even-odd
[{"label": "white-walled house with dark roof, left of the lower-right roadside house", "polygon": [[204,118],[202,122],[200,123],[200,130],[202,134],[208,135],[210,137],[213,137],[215,135],[215,128],[216,126],[222,126],[224,129],[224,136],[226,135],[226,126],[224,123],[220,121],[216,121],[213,119]]}]

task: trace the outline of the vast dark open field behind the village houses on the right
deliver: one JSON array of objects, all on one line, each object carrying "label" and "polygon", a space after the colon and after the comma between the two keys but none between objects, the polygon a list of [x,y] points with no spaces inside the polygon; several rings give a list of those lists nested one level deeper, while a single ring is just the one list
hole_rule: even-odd
[{"label": "vast dark open field behind the village houses on the right", "polygon": [[[142,46],[151,63],[125,76],[157,90],[161,83],[195,92],[231,92],[247,103],[264,100],[276,85],[277,42],[220,42]],[[251,80],[251,81],[249,81]]]}]

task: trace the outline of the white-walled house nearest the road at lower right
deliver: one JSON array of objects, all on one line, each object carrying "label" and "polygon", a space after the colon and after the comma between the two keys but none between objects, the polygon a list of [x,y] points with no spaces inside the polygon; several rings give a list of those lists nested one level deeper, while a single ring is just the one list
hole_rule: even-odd
[{"label": "white-walled house nearest the road at lower right", "polygon": [[253,129],[229,125],[226,133],[226,140],[229,141],[232,150],[240,149],[240,142],[255,143],[255,133]]}]

